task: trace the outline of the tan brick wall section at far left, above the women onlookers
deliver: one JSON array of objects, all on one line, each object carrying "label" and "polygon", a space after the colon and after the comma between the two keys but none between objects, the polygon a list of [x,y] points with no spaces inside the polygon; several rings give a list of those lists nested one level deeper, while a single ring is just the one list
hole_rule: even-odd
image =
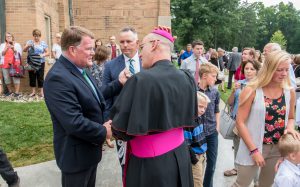
[{"label": "tan brick wall section at far left, above the women onlookers", "polygon": [[[32,30],[38,28],[42,32],[41,40],[47,41],[45,15],[51,20],[50,41],[59,32],[59,0],[9,0],[6,1],[6,30],[15,36],[15,41],[24,47],[27,40],[32,39]],[[50,42],[51,47],[52,42]],[[26,59],[23,53],[23,62]],[[47,66],[48,69],[48,66]],[[27,73],[27,72],[26,72]],[[21,80],[21,92],[29,92],[28,74]]]}]

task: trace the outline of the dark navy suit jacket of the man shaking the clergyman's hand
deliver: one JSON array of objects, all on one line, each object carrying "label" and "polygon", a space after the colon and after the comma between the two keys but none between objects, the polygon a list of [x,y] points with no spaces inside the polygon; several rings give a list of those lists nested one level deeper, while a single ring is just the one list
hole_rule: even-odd
[{"label": "dark navy suit jacket of the man shaking the clergyman's hand", "polygon": [[99,100],[77,67],[64,56],[50,69],[44,83],[45,101],[53,122],[55,158],[65,173],[97,165],[102,156],[106,138],[102,125],[105,99],[89,72],[87,75]]}]

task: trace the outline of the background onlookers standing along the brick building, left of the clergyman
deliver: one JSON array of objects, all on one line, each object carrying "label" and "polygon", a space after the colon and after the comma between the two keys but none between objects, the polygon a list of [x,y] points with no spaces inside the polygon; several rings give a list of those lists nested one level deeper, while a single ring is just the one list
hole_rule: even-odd
[{"label": "background onlookers standing along the brick building, left of the clergyman", "polygon": [[[39,96],[43,98],[46,57],[54,59],[54,63],[59,59],[62,54],[61,35],[62,33],[55,34],[55,43],[50,52],[48,44],[41,40],[42,33],[39,29],[32,31],[33,38],[26,41],[24,47],[15,41],[12,33],[6,32],[5,41],[0,45],[0,95],[16,98],[22,95],[20,83],[24,75],[15,75],[13,72],[22,71],[25,73],[23,70],[26,70],[29,76],[29,86],[31,87],[29,97]],[[93,74],[97,74],[94,76],[96,79],[99,79],[99,75],[102,76],[104,62],[114,59],[121,54],[120,46],[116,43],[116,37],[110,36],[109,41],[108,44],[103,45],[101,39],[95,40],[94,50],[96,59],[94,58],[94,65],[90,70],[93,71]],[[101,49],[96,50],[98,47]],[[27,56],[23,57],[25,60],[22,59],[23,52],[27,53]],[[49,60],[49,64],[51,62]],[[100,82],[98,80],[98,84]],[[39,89],[38,94],[37,89]]]}]

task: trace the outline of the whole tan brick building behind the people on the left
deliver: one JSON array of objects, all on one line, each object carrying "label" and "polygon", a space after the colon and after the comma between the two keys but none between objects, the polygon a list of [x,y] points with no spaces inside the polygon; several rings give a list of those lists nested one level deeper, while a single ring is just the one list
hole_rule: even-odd
[{"label": "whole tan brick building behind the people on the left", "polygon": [[[38,28],[51,48],[55,34],[70,25],[90,29],[104,43],[128,25],[142,38],[154,26],[171,25],[170,0],[0,0],[1,42],[8,31],[24,46]],[[21,90],[27,85],[22,79]]]}]

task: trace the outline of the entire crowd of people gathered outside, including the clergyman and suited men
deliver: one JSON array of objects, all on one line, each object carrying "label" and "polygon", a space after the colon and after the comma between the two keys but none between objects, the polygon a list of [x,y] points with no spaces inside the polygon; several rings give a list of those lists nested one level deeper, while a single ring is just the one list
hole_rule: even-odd
[{"label": "entire crowd of people gathered outside, including the clergyman and suited men", "polygon": [[[226,71],[231,93],[225,102],[236,128],[234,168],[224,175],[237,175],[234,187],[300,185],[299,55],[277,43],[266,44],[263,53],[250,47],[241,54],[237,47],[230,54],[222,48],[205,53],[195,40],[180,52],[177,69],[170,28],[157,27],[140,41],[134,28],[125,27],[118,41],[110,36],[103,45],[88,29],[72,26],[56,35],[55,63],[44,82],[49,51],[40,37],[35,29],[23,51],[29,65],[30,50],[40,56],[39,69],[29,74],[30,96],[37,82],[53,123],[62,186],[95,186],[103,144],[113,148],[112,136],[124,186],[214,186]],[[22,48],[7,33],[0,52],[5,84],[17,95],[18,79],[12,79],[13,91],[7,69]],[[0,158],[8,163],[2,150]],[[14,179],[9,185],[19,183],[10,164],[0,171]]]}]

